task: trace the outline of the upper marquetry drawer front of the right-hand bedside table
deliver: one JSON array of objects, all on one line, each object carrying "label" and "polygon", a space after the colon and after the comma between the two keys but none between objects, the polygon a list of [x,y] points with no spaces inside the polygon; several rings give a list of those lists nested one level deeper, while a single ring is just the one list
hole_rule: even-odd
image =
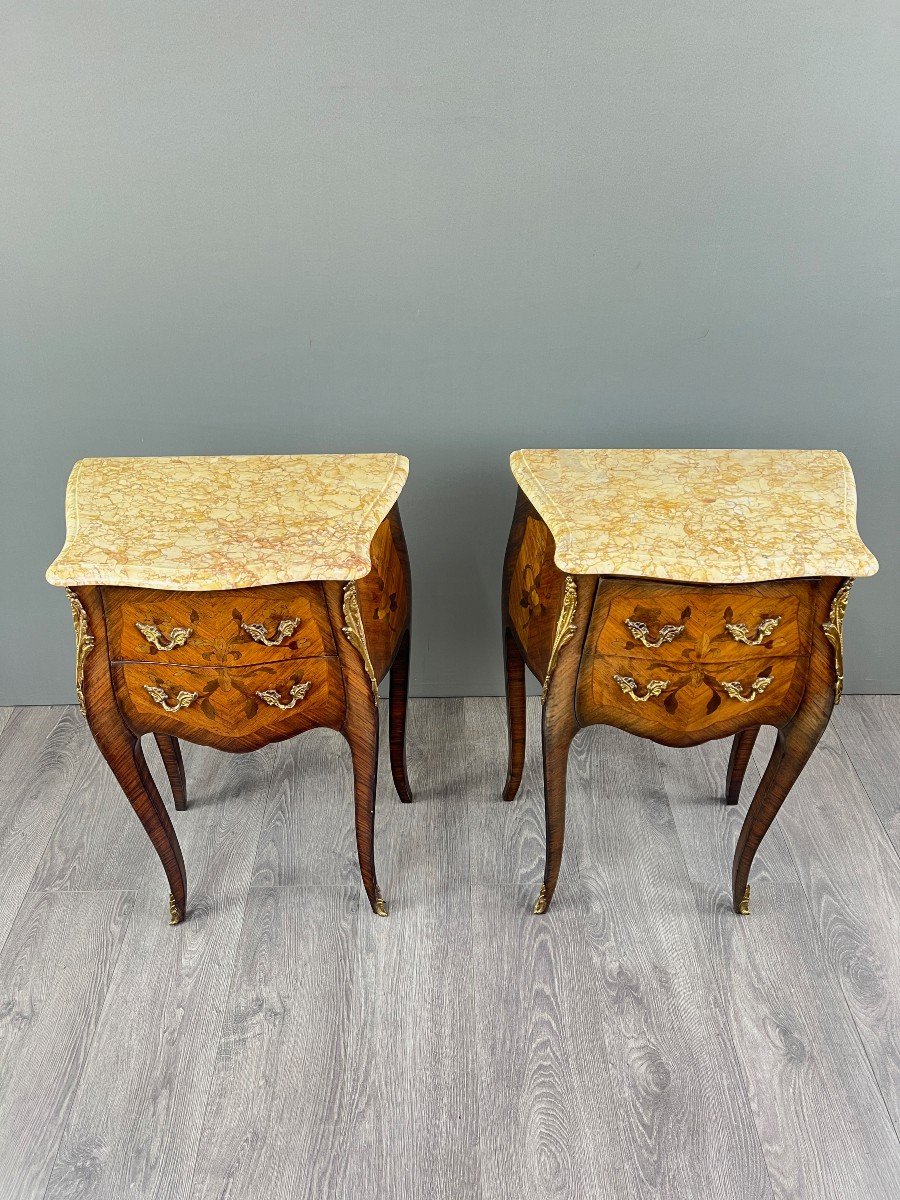
[{"label": "upper marquetry drawer front of the right-hand bedside table", "polygon": [[588,644],[600,654],[740,661],[755,652],[805,652],[811,612],[805,580],[743,587],[601,583]]}]

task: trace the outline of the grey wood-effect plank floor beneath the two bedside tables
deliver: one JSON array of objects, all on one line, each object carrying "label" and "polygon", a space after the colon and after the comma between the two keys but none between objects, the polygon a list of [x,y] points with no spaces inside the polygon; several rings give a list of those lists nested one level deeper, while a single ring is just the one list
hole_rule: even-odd
[{"label": "grey wood-effect plank floor beneath the two bedside tables", "polygon": [[[847,697],[728,905],[727,744],[413,702],[361,899],[349,756],[185,748],[191,917],[77,709],[0,710],[0,1198],[900,1196],[900,697]],[[386,739],[385,739],[386,740]],[[748,796],[770,744],[751,764]],[[152,760],[151,766],[158,767]]]}]

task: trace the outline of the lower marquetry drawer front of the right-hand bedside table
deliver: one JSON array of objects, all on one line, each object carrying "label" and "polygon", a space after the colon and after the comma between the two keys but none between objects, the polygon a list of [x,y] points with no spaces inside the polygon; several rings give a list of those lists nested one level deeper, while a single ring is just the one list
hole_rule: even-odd
[{"label": "lower marquetry drawer front of the right-hand bedside table", "polygon": [[702,742],[749,725],[780,725],[803,694],[808,659],[665,661],[598,655],[582,664],[582,724],[610,724],[658,740]]}]

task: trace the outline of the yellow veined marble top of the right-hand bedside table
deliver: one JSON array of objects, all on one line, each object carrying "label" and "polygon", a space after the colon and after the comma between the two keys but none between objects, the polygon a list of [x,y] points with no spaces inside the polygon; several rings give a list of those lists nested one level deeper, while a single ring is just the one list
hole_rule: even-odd
[{"label": "yellow veined marble top of the right-hand bedside table", "polygon": [[875,575],[836,450],[517,450],[571,575],[752,583]]}]

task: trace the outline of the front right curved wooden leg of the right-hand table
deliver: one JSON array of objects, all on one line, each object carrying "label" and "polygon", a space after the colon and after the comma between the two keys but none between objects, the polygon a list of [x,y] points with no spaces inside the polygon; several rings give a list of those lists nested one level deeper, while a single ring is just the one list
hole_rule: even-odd
[{"label": "front right curved wooden leg of the right-hand table", "polygon": [[815,714],[805,715],[808,719],[798,713],[788,725],[779,730],[769,764],[750,802],[738,838],[732,866],[732,900],[734,912],[744,917],[750,912],[748,880],[756,851],[828,724],[827,713],[818,720],[809,719]]}]

